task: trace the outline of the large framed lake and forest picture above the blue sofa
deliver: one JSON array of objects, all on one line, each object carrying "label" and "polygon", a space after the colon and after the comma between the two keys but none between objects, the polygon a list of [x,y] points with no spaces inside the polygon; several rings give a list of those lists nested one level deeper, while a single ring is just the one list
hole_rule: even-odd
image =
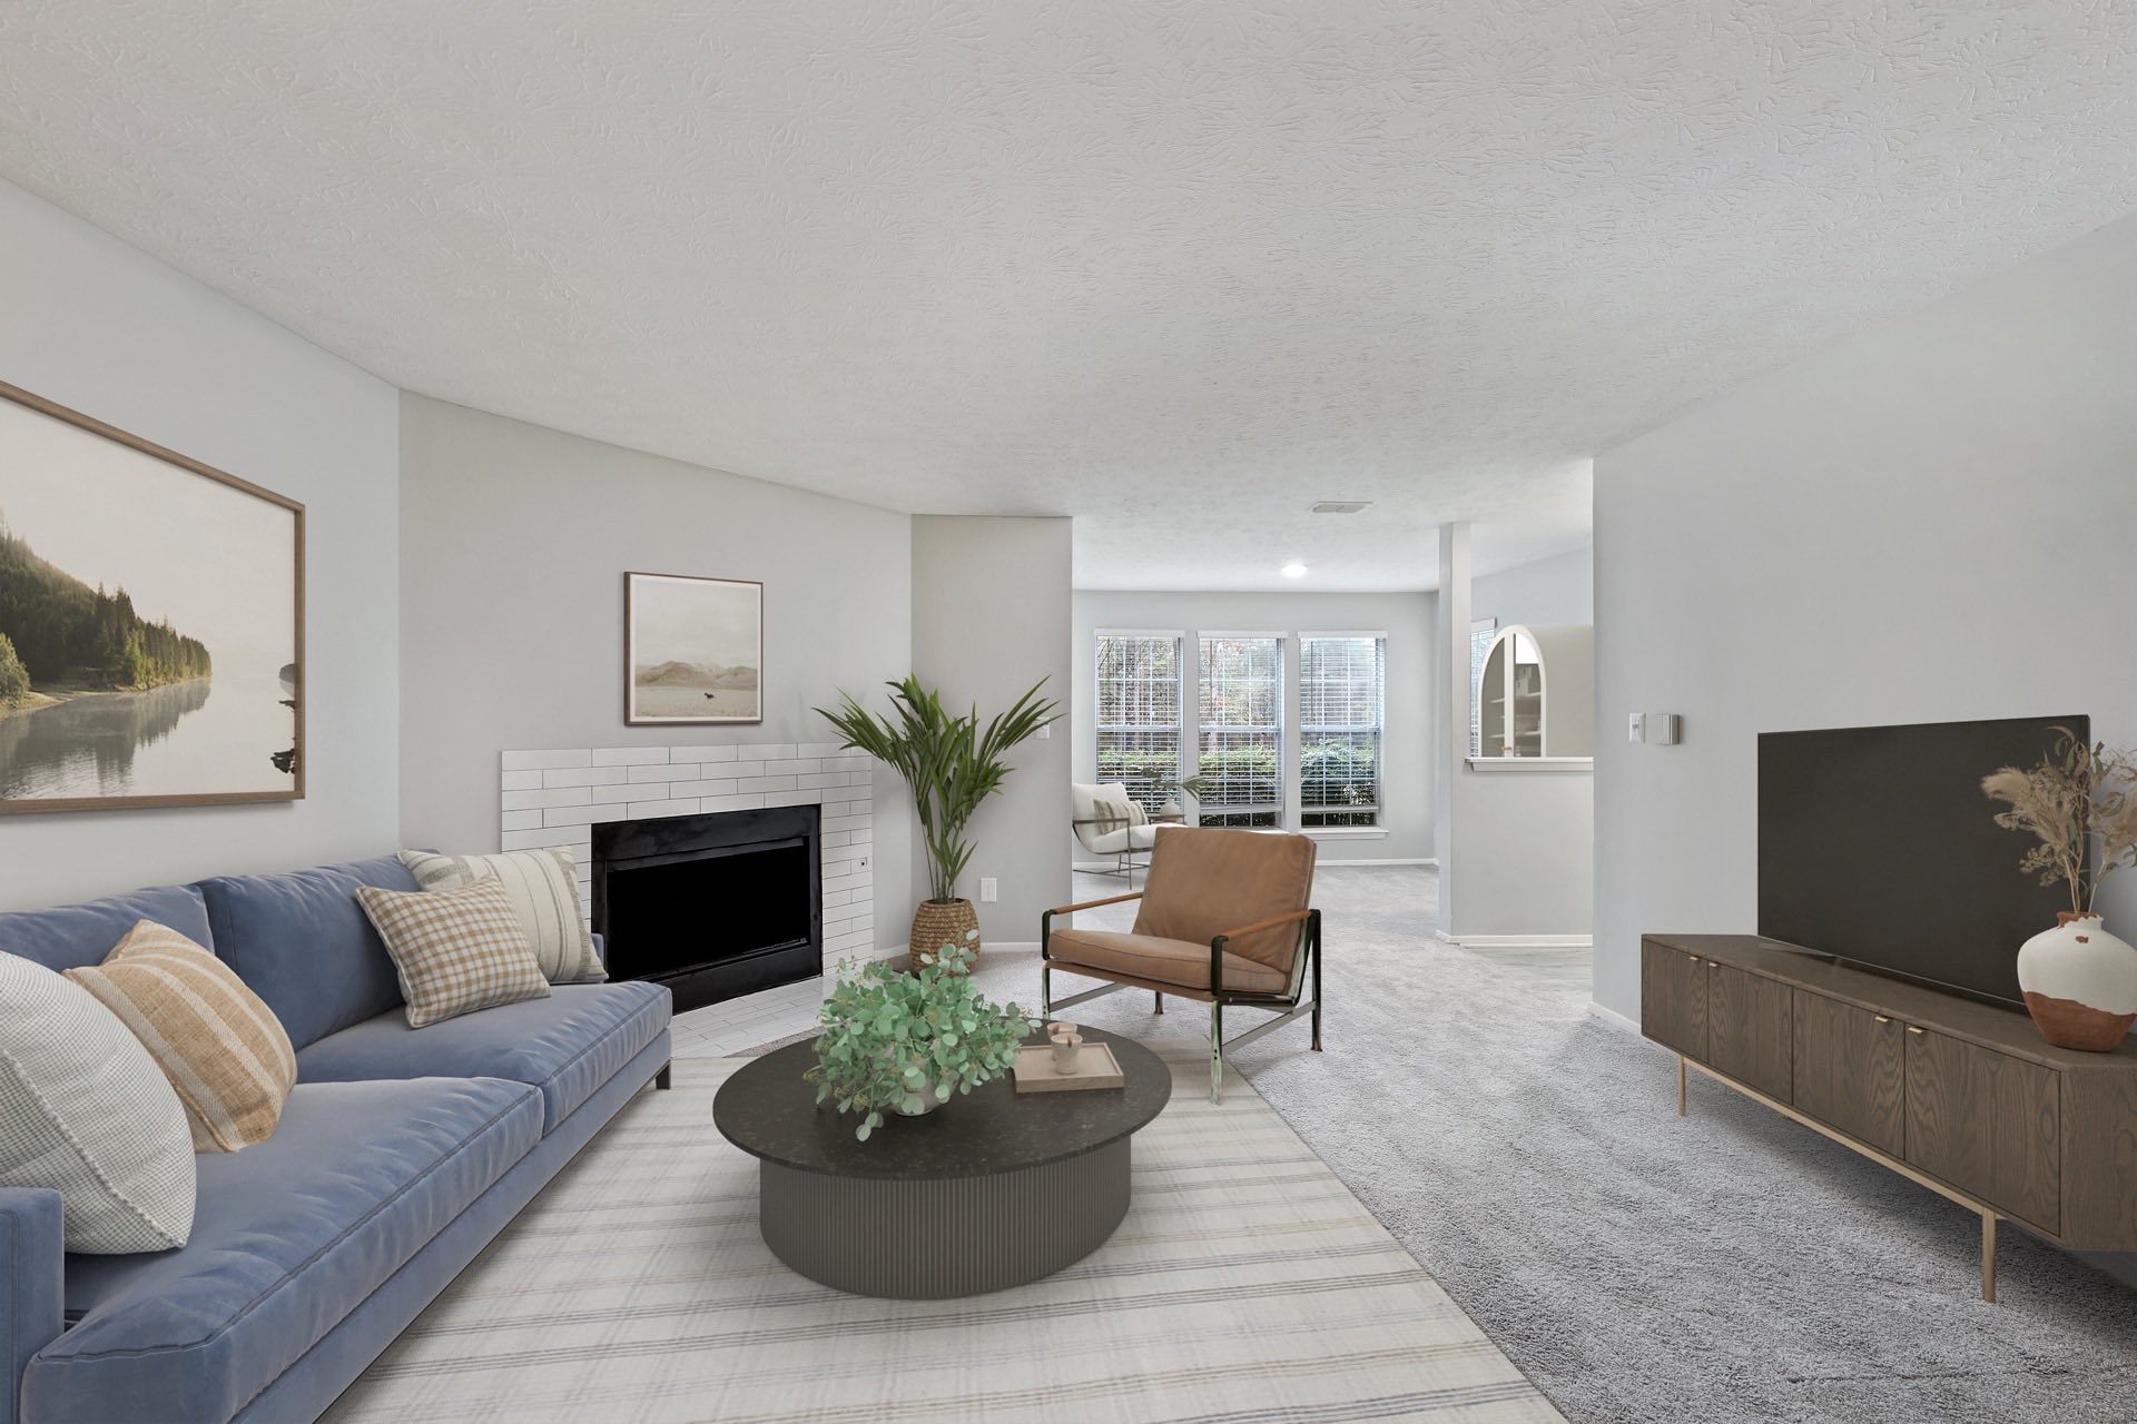
[{"label": "large framed lake and forest picture above the blue sofa", "polygon": [[0,384],[0,813],[303,796],[303,506]]}]

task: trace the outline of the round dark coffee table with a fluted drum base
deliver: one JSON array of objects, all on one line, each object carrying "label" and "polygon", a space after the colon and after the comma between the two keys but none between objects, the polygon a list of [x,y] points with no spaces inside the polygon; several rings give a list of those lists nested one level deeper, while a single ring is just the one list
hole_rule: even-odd
[{"label": "round dark coffee table with a fluted drum base", "polygon": [[[759,1159],[765,1245],[812,1281],[855,1296],[934,1300],[1049,1277],[1128,1213],[1128,1138],[1173,1074],[1135,1040],[1107,1042],[1118,1089],[1017,1093],[1009,1076],[925,1117],[887,1117],[855,1142],[855,1117],[816,1106],[810,1044],[737,1070],[712,1102],[729,1142]],[[1043,1042],[1032,1035],[1030,1042]]]}]

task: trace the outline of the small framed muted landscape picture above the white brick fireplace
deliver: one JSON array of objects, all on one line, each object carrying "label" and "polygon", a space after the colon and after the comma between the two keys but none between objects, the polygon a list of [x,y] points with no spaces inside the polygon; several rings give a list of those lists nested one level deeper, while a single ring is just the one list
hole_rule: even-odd
[{"label": "small framed muted landscape picture above the white brick fireplace", "polygon": [[624,722],[765,719],[765,585],[624,574]]}]

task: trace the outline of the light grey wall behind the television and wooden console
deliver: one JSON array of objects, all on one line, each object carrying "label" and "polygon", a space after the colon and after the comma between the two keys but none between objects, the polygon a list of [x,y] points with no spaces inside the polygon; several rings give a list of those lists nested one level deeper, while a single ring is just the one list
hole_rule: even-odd
[{"label": "light grey wall behind the television and wooden console", "polygon": [[[2137,220],[1596,459],[1601,726],[1684,713],[1598,745],[1603,1006],[1637,1016],[1641,931],[1754,929],[1761,730],[2075,709],[2137,741],[2131,312]],[[2137,873],[2109,886],[2128,937]]]}]

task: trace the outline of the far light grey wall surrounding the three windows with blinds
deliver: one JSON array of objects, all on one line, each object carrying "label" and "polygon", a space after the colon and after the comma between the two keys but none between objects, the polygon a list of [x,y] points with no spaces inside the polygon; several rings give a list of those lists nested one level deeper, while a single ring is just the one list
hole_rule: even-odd
[{"label": "far light grey wall surrounding the three windows with blinds", "polygon": [[[1096,630],[1150,628],[1197,632],[1385,632],[1387,745],[1383,747],[1385,837],[1321,837],[1323,865],[1342,860],[1423,860],[1432,856],[1432,594],[1124,594],[1075,596],[1075,698],[1071,764],[1077,781],[1098,766],[1094,664]],[[1192,645],[1186,653],[1192,658]],[[1295,662],[1295,660],[1293,660]],[[1295,668],[1291,668],[1295,675]],[[1188,713],[1192,717],[1192,711]],[[1286,764],[1286,777],[1297,775]],[[1066,826],[1066,818],[1062,820]],[[1062,854],[1073,841],[1058,837]]]}]

